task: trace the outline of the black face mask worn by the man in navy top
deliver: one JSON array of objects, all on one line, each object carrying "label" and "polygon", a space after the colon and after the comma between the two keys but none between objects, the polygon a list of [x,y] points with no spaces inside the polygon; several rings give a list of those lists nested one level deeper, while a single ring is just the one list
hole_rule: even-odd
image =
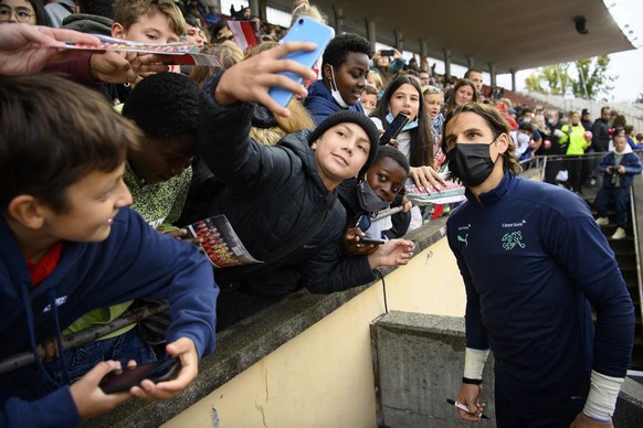
[{"label": "black face mask worn by the man in navy top", "polygon": [[495,162],[489,153],[489,146],[483,143],[455,143],[446,152],[449,170],[467,188],[475,188],[484,183],[492,174]]}]

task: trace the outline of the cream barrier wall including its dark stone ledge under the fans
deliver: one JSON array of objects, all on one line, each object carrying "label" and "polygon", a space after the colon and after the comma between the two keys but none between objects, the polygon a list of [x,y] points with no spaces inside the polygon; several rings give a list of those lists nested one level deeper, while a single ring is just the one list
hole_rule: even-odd
[{"label": "cream barrier wall including its dark stone ledge under the fans", "polygon": [[[411,234],[415,256],[384,270],[390,310],[464,314],[465,293],[445,218]],[[316,296],[303,290],[218,335],[196,382],[166,403],[133,400],[88,426],[372,427],[370,322],[381,281]]]}]

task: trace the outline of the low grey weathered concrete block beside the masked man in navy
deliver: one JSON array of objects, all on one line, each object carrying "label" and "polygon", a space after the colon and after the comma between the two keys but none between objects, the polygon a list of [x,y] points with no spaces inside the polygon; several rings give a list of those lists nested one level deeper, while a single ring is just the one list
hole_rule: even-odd
[{"label": "low grey weathered concrete block beside the masked man in navy", "polygon": [[[455,399],[464,367],[464,319],[393,311],[371,328],[378,426],[463,427],[457,410],[446,403]],[[483,395],[486,415],[493,417],[493,357],[485,365]],[[494,419],[481,427],[495,426]]]}]

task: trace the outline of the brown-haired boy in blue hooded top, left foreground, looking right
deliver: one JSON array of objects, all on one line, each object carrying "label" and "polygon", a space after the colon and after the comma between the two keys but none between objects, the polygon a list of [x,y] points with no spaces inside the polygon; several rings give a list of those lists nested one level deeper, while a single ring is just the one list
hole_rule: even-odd
[{"label": "brown-haired boy in blue hooded top, left foreground, looking right", "polygon": [[[219,289],[207,258],[127,207],[126,153],[140,137],[70,81],[0,77],[0,360],[35,355],[0,373],[0,427],[77,426],[131,397],[171,398],[214,350]],[[62,350],[63,329],[81,315],[143,297],[169,301],[176,378],[106,394],[99,383],[120,362],[105,359],[77,381],[48,373],[38,343],[54,336]]]}]

